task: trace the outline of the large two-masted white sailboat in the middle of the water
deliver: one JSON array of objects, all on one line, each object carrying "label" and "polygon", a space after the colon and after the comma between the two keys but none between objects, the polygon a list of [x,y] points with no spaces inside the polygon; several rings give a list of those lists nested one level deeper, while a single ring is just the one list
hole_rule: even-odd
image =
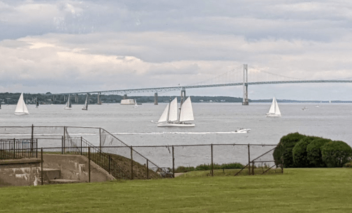
[{"label": "large two-masted white sailboat in the middle of the water", "polygon": [[166,105],[162,116],[157,122],[157,127],[195,127],[195,124],[186,123],[194,121],[193,108],[190,97],[181,105],[180,114],[177,116],[177,98]]}]

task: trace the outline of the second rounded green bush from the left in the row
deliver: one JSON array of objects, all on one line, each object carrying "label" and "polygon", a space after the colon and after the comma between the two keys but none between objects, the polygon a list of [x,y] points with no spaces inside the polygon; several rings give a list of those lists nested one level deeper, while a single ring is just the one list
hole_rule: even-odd
[{"label": "second rounded green bush from the left in the row", "polygon": [[310,162],[308,160],[307,146],[317,137],[306,136],[302,138],[292,149],[293,162],[295,167],[309,167]]}]

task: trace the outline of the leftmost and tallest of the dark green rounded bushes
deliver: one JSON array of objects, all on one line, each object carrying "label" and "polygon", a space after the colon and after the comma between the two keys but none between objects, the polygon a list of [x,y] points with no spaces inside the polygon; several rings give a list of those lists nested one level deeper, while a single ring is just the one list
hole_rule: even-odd
[{"label": "leftmost and tallest of the dark green rounded bushes", "polygon": [[284,167],[294,167],[292,150],[293,147],[306,136],[298,132],[288,134],[280,139],[279,144],[274,150],[274,160],[276,164],[284,164]]}]

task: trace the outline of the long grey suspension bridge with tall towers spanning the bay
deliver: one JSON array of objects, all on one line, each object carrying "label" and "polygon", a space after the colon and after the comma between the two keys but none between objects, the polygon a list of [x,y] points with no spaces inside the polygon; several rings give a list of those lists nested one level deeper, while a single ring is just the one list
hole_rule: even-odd
[{"label": "long grey suspension bridge with tall towers spanning the bay", "polygon": [[[265,79],[265,80],[263,80]],[[157,105],[157,95],[161,92],[167,91],[181,91],[181,99],[186,96],[186,89],[199,89],[207,87],[219,87],[219,86],[243,86],[243,101],[242,105],[248,105],[248,85],[260,85],[260,84],[306,84],[306,83],[352,83],[352,80],[346,79],[298,79],[296,77],[287,77],[284,75],[278,75],[263,70],[254,70],[253,75],[250,75],[248,80],[248,65],[242,65],[229,72],[222,73],[216,77],[212,77],[202,82],[190,84],[186,86],[167,86],[167,87],[154,87],[154,88],[142,88],[142,89],[116,89],[107,91],[85,91],[85,92],[72,92],[72,93],[55,93],[55,95],[68,95],[73,96],[78,94],[97,94],[98,104],[101,104],[100,95],[117,95],[121,94],[127,97],[129,93],[154,93],[154,104]]]}]

